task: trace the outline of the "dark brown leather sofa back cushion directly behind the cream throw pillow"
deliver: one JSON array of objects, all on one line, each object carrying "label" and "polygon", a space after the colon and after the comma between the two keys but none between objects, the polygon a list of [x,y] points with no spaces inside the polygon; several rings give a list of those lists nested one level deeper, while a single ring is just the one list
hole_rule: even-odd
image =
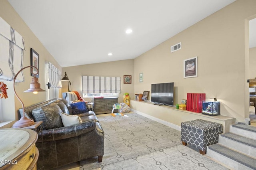
[{"label": "dark brown leather sofa back cushion directly behind the cream throw pillow", "polygon": [[32,110],[35,121],[43,121],[43,130],[63,127],[60,114],[60,107],[56,103],[36,108]]}]

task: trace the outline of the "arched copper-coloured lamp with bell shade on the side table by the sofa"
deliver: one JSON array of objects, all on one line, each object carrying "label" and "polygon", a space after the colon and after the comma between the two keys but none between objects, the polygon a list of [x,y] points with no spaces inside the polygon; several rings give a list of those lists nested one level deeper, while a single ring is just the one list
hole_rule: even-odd
[{"label": "arched copper-coloured lamp with bell shade on the side table by the sofa", "polygon": [[[27,67],[20,69],[20,71],[18,71],[18,73],[15,75],[14,80],[13,80],[14,81],[14,83],[13,83],[14,94],[19,99],[19,101],[22,105],[22,117],[20,118],[20,120],[18,120],[16,123],[14,123],[14,125],[12,126],[13,128],[28,127],[28,126],[35,124],[34,120],[31,120],[31,119],[28,119],[27,117],[25,117],[24,103],[22,102],[20,97],[18,97],[16,90],[15,90],[15,80],[16,80],[18,74],[26,68],[31,68],[31,73],[32,73],[33,67],[34,66],[27,66]],[[36,77],[36,75],[38,74],[38,68],[37,67],[34,67],[34,68],[37,70],[37,72],[36,72],[36,74],[34,74],[34,77],[32,78],[32,83],[30,83],[30,89],[28,89],[24,92],[33,92],[34,94],[37,94],[39,91],[45,91],[45,90],[40,88],[40,83],[38,83],[38,78]]]}]

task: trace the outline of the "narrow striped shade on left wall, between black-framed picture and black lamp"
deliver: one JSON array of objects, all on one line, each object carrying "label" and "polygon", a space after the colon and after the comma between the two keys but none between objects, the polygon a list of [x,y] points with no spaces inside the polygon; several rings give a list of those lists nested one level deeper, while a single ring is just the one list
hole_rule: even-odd
[{"label": "narrow striped shade on left wall, between black-framed picture and black lamp", "polygon": [[49,62],[49,81],[52,88],[62,88],[61,72],[52,63]]}]

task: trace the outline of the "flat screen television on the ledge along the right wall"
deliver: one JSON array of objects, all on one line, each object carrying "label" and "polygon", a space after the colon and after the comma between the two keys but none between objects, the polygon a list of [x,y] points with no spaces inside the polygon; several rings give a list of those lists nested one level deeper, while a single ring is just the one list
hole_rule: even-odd
[{"label": "flat screen television on the ledge along the right wall", "polygon": [[151,85],[151,101],[160,105],[173,106],[174,83],[158,83]]}]

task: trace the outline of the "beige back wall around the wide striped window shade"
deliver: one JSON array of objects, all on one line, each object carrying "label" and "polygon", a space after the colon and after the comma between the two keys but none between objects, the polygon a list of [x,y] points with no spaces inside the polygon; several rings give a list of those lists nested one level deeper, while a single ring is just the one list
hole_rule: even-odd
[{"label": "beige back wall around the wide striped window shade", "polygon": [[[86,58],[85,58],[86,59]],[[88,65],[78,65],[73,67],[63,67],[62,75],[67,73],[71,82],[71,91],[78,91],[82,95],[82,76],[111,76],[121,77],[121,93],[119,94],[118,102],[123,101],[123,94],[129,93],[130,98],[134,99],[134,60],[121,60],[106,63],[96,63]],[[124,84],[124,75],[132,75],[132,84]],[[68,91],[68,84],[62,82],[63,88],[61,92]],[[143,92],[143,91],[142,91]],[[142,93],[141,92],[141,93]],[[61,94],[61,93],[60,93]]]}]

